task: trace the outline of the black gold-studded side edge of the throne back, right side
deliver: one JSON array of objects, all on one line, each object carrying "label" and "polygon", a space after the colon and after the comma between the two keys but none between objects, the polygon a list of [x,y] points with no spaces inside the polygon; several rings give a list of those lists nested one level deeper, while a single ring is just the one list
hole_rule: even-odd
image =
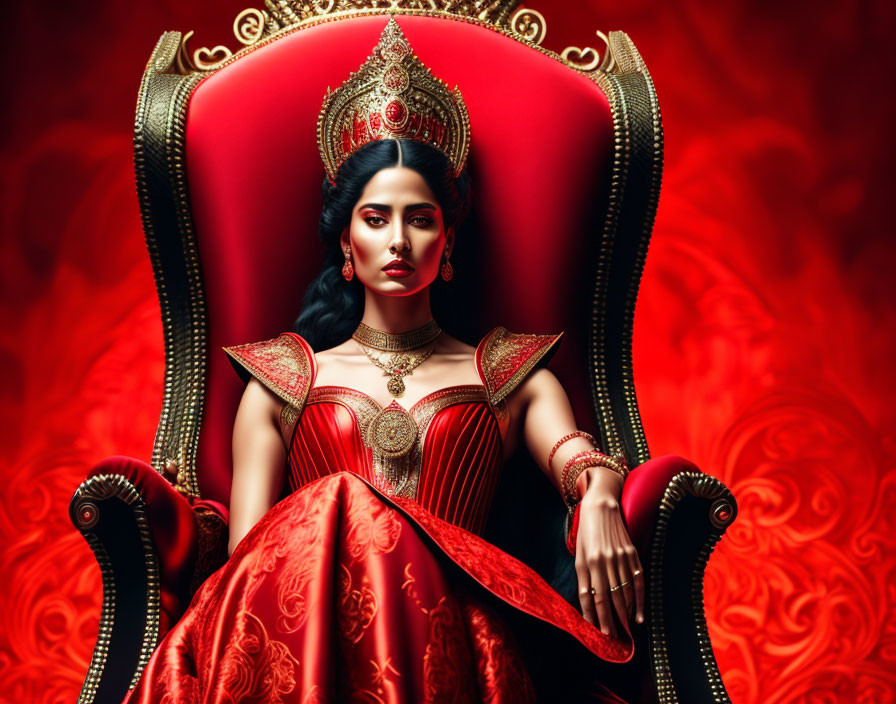
[{"label": "black gold-studded side edge of the throne back, right side", "polygon": [[[659,200],[663,131],[653,81],[634,43],[625,32],[610,32],[608,44],[612,69],[590,74],[610,103],[614,133],[592,299],[590,381],[604,447],[635,467],[650,459],[635,397],[632,333]],[[621,383],[611,389],[610,379]]]}]

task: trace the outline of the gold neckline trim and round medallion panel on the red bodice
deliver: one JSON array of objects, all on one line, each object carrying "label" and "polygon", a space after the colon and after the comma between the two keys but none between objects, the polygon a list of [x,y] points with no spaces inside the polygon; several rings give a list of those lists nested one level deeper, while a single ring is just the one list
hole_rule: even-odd
[{"label": "gold neckline trim and round medallion panel on the red bodice", "polygon": [[[306,405],[330,402],[351,410],[357,419],[361,441],[373,457],[374,485],[390,496],[414,499],[430,422],[443,408],[455,403],[477,401],[488,403],[484,386],[439,389],[421,398],[410,410],[394,401],[386,407],[380,406],[373,398],[356,389],[318,386],[311,389]],[[494,410],[501,423],[502,416],[506,415],[504,404]]]}]

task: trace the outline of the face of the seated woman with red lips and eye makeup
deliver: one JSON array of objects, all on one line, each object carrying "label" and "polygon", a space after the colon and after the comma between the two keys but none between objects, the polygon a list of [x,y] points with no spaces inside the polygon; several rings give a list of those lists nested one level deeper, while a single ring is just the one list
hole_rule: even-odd
[{"label": "face of the seated woman with red lips and eye makeup", "polygon": [[406,296],[435,280],[442,254],[451,254],[452,239],[423,177],[392,167],[367,182],[342,233],[342,249],[351,245],[355,275],[367,288]]}]

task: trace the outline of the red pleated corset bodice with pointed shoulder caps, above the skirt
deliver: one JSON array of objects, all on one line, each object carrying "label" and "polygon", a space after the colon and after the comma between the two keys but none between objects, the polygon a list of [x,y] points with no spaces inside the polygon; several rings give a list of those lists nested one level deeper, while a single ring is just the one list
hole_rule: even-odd
[{"label": "red pleated corset bodice with pointed shoulder caps, above the skirt", "polygon": [[383,408],[344,386],[314,386],[314,353],[295,333],[225,351],[243,378],[251,374],[284,401],[291,490],[350,471],[481,534],[502,464],[505,399],[559,339],[495,328],[476,348],[481,385],[439,389],[409,409],[395,401]]}]

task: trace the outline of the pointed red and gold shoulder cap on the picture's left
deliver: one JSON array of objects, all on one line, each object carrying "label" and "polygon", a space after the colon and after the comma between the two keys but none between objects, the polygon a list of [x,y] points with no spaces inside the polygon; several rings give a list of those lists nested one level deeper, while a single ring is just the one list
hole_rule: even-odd
[{"label": "pointed red and gold shoulder cap on the picture's left", "polygon": [[[298,415],[314,383],[314,352],[299,335],[285,332],[273,340],[224,347],[244,381],[253,376]],[[287,415],[288,417],[288,415]],[[281,413],[281,421],[284,416]]]}]

